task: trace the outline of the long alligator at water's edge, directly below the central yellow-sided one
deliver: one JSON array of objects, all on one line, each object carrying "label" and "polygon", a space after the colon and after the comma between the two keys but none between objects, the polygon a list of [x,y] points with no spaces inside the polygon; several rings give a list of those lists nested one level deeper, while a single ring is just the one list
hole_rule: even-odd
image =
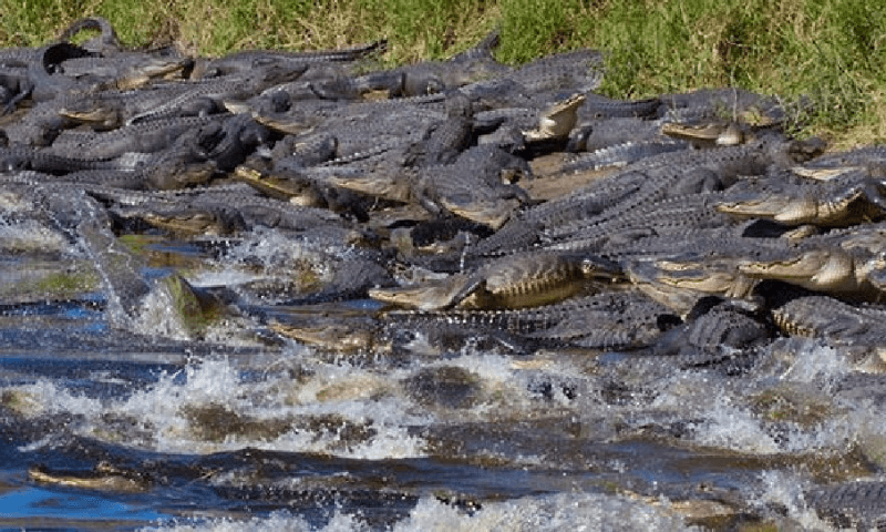
[{"label": "long alligator at water's edge, directly below the central yellow-sided one", "polygon": [[680,324],[667,308],[631,290],[498,310],[390,309],[370,316],[352,309],[297,307],[269,316],[276,332],[323,349],[413,355],[421,345],[434,354],[457,351],[468,344],[511,355],[553,348],[638,349]]}]

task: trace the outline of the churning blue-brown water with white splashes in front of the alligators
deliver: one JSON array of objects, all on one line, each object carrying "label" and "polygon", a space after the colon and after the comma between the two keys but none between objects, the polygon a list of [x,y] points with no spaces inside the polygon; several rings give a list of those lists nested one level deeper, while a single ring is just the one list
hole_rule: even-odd
[{"label": "churning blue-brown water with white splashes in front of the alligators", "polygon": [[[237,285],[240,253],[188,275]],[[804,492],[880,474],[878,377],[846,395],[862,374],[811,341],[740,375],[404,359],[261,340],[241,317],[195,341],[152,296],[125,327],[101,291],[2,307],[0,530],[827,529]]]}]

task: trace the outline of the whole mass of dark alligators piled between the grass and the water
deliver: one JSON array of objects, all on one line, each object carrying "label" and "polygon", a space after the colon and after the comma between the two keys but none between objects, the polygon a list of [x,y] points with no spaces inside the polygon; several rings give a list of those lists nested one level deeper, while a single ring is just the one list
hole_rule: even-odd
[{"label": "whole mass of dark alligators piled between the grass and the water", "polygon": [[[739,89],[605,98],[599,52],[512,68],[496,43],[373,70],[384,41],[207,59],[89,18],[0,50],[3,223],[74,246],[72,276],[94,266],[73,295],[4,286],[4,308],[97,290],[121,325],[174,285],[185,319],[339,354],[622,351],[734,376],[805,336],[882,368],[886,149],[825,153]],[[220,255],[269,229],[322,268],[194,286],[124,236]]]}]

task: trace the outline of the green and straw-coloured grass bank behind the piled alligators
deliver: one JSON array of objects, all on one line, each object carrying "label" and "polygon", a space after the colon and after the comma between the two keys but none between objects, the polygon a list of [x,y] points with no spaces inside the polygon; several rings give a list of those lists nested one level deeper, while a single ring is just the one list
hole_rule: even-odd
[{"label": "green and straw-coloured grass bank behind the piled alligators", "polygon": [[244,48],[339,48],[388,37],[387,64],[445,58],[502,28],[497,57],[608,52],[601,92],[641,98],[735,85],[816,104],[803,134],[839,146],[886,139],[886,7],[863,0],[7,0],[0,44],[47,42],[83,13],[121,39]]}]

